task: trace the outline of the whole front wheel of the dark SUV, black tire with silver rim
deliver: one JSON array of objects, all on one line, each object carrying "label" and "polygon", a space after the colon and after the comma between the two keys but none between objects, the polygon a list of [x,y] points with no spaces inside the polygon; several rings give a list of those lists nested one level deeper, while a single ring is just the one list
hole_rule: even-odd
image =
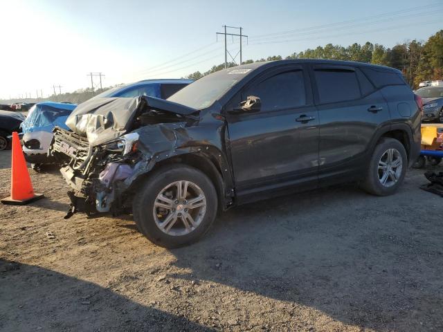
[{"label": "whole front wheel of the dark SUV, black tire with silver rim", "polygon": [[[188,192],[188,196],[180,200],[177,199],[179,181],[183,184],[183,187],[180,185],[181,191]],[[185,183],[188,183],[186,190],[184,190]],[[160,194],[163,194],[161,197],[168,199],[168,202],[163,198],[159,200]],[[197,199],[196,205],[202,206],[191,208],[191,205],[187,205],[192,198]],[[206,205],[203,205],[204,203]],[[217,203],[217,192],[206,174],[194,167],[176,164],[156,170],[138,187],[132,212],[138,230],[147,239],[158,246],[177,248],[194,243],[208,232],[217,214]],[[159,207],[159,205],[168,205],[172,208]],[[170,216],[172,219],[167,223]],[[188,216],[191,219],[188,219]],[[176,217],[177,219],[174,219]]]}]

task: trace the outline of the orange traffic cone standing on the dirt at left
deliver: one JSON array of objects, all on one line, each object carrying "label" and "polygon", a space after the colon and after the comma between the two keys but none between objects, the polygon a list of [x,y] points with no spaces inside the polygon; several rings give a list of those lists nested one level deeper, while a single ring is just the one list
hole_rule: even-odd
[{"label": "orange traffic cone standing on the dirt at left", "polygon": [[35,194],[30,182],[25,156],[21,151],[19,134],[12,133],[12,163],[11,163],[11,196],[1,200],[3,204],[24,205],[41,199],[42,194]]}]

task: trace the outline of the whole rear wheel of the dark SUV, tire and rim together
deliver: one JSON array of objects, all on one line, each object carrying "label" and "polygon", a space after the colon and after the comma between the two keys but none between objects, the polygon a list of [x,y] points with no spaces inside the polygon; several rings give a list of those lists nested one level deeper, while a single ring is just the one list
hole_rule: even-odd
[{"label": "whole rear wheel of the dark SUV, tire and rim together", "polygon": [[[391,161],[389,161],[390,151]],[[400,163],[399,166],[395,166],[397,163]],[[401,142],[394,138],[383,138],[374,149],[365,180],[361,186],[363,190],[373,195],[392,195],[403,183],[407,167],[408,156]]]}]

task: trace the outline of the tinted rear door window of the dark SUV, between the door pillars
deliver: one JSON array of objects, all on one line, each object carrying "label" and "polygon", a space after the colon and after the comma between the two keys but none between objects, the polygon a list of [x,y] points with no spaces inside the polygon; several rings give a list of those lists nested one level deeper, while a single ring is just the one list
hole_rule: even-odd
[{"label": "tinted rear door window of the dark SUV, between the door pillars", "polygon": [[354,71],[328,68],[316,69],[314,73],[322,104],[356,100],[361,97],[359,82]]}]

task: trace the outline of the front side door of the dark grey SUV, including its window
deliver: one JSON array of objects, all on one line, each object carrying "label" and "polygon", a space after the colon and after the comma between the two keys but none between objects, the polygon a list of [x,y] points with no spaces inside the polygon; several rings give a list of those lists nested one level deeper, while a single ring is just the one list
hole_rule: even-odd
[{"label": "front side door of the dark grey SUV, including its window", "polygon": [[261,99],[260,111],[227,113],[239,200],[253,192],[269,193],[287,185],[316,186],[318,113],[307,71],[302,66],[266,71],[245,86],[227,110],[249,95]]}]

